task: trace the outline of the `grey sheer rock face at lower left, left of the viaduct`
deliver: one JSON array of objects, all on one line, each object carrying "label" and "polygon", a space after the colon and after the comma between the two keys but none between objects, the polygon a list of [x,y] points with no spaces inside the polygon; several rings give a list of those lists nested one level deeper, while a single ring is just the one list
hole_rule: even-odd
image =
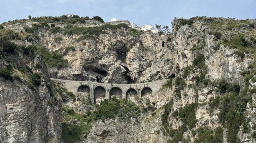
[{"label": "grey sheer rock face at lower left, left of the viaduct", "polygon": [[[0,142],[60,143],[61,99],[51,95],[47,68],[37,55],[34,65],[43,71],[40,86],[30,89],[0,79]],[[44,69],[43,69],[44,67]],[[24,84],[24,83],[23,83]]]}]

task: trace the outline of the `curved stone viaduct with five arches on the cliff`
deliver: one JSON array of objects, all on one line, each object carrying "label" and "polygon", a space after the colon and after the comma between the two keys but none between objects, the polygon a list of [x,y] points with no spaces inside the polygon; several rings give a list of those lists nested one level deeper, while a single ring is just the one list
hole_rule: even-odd
[{"label": "curved stone viaduct with five arches on the cliff", "polygon": [[155,95],[167,81],[167,79],[163,79],[146,83],[116,84],[54,78],[51,78],[51,80],[64,86],[68,91],[73,93],[90,95],[93,104],[104,99],[110,100],[114,96],[118,99],[128,99],[131,96],[138,96],[141,98],[149,94]]}]

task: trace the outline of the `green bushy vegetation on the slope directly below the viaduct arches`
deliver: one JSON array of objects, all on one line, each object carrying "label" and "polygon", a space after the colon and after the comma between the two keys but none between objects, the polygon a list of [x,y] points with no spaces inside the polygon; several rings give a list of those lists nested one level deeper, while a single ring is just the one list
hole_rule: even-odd
[{"label": "green bushy vegetation on the slope directly below the viaduct arches", "polygon": [[[75,143],[88,134],[92,125],[98,120],[118,119],[128,120],[131,117],[140,115],[140,108],[128,100],[118,100],[112,98],[110,101],[104,100],[99,105],[95,105],[94,112],[80,114],[67,106],[63,107],[64,122],[62,124],[62,139],[64,143]],[[79,123],[72,123],[76,121]]]}]

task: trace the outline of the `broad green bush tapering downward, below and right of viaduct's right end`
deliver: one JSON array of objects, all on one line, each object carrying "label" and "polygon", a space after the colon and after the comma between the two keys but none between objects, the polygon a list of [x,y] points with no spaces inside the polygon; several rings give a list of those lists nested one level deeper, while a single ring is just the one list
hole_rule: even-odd
[{"label": "broad green bush tapering downward, below and right of viaduct's right end", "polygon": [[191,103],[179,109],[178,115],[181,118],[182,122],[186,124],[189,129],[195,127],[196,118],[195,118],[195,110],[197,108],[198,103]]}]

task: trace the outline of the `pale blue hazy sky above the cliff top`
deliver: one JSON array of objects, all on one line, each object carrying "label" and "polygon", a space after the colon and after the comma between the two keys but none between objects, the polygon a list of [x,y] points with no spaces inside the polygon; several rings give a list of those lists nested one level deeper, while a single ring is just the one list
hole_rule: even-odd
[{"label": "pale blue hazy sky above the cliff top", "polygon": [[194,16],[256,18],[256,0],[0,0],[0,23],[26,19],[29,15],[100,16],[129,20],[138,26],[160,24],[171,27],[174,17]]}]

